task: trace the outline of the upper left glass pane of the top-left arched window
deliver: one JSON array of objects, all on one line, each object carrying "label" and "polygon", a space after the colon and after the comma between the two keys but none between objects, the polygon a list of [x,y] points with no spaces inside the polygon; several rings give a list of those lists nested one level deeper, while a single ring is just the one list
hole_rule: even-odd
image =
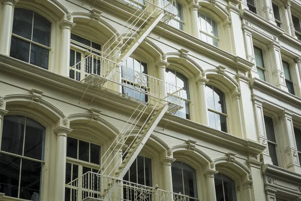
[{"label": "upper left glass pane of the top-left arched window", "polygon": [[27,9],[14,10],[13,33],[31,40],[33,12]]}]

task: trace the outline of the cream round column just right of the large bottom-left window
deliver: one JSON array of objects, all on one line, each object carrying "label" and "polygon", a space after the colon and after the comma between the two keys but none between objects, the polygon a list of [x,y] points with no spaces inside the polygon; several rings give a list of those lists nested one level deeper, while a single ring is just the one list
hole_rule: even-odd
[{"label": "cream round column just right of the large bottom-left window", "polygon": [[71,131],[72,129],[61,126],[54,129],[55,134],[57,134],[54,200],[65,199],[67,135]]}]

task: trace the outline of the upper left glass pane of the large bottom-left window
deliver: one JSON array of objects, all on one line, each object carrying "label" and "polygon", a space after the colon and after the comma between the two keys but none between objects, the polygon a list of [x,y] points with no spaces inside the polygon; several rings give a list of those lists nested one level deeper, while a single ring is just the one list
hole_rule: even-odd
[{"label": "upper left glass pane of the large bottom-left window", "polygon": [[1,150],[22,155],[25,117],[4,116]]}]

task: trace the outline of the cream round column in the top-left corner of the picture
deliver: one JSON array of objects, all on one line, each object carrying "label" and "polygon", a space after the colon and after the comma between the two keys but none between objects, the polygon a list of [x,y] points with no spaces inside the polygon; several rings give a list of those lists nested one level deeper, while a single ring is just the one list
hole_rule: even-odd
[{"label": "cream round column in the top-left corner of the picture", "polygon": [[14,8],[19,0],[3,0],[3,14],[0,27],[0,54],[9,56],[11,49]]}]

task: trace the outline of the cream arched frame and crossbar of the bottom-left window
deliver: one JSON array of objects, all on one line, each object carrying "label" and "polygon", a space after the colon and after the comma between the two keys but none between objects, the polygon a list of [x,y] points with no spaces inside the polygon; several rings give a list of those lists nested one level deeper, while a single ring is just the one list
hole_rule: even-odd
[{"label": "cream arched frame and crossbar of the bottom-left window", "polygon": [[[11,112],[9,112],[4,117],[11,116],[11,115],[19,115],[19,116],[23,116],[23,117],[26,117],[26,118],[30,118],[30,119],[36,121],[37,123],[39,123],[41,126],[45,127],[44,151],[43,151],[44,158],[43,158],[43,160],[38,160],[38,159],[33,159],[32,158],[32,161],[41,162],[41,164],[42,164],[42,167],[41,167],[41,180],[40,180],[40,199],[43,200],[47,197],[48,187],[47,187],[46,183],[50,179],[49,171],[47,171],[47,169],[49,169],[50,165],[51,165],[50,160],[49,160],[50,158],[47,157],[51,154],[50,153],[51,150],[49,149],[51,136],[48,135],[50,133],[50,126],[48,125],[48,121],[46,122],[43,119],[38,118],[39,115],[41,115],[41,114],[37,114],[37,113],[33,114],[31,110],[29,110],[29,111],[19,111],[18,110],[18,112],[14,111],[14,110],[10,110],[10,111]],[[2,132],[0,132],[0,153],[9,153],[9,152],[1,151],[2,135],[3,135],[3,130],[2,130]],[[18,154],[11,153],[9,155],[16,156],[16,157],[21,157],[21,158],[24,158],[24,159],[28,159],[28,157],[21,156],[21,155],[18,155]],[[42,155],[42,157],[43,157],[43,155]]]}]

